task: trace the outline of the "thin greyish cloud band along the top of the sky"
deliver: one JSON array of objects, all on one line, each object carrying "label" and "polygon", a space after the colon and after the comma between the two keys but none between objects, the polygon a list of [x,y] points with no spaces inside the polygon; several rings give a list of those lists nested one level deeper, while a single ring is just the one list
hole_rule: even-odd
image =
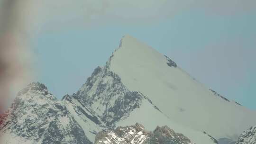
[{"label": "thin greyish cloud band along the top of the sky", "polygon": [[41,0],[35,5],[46,21],[83,20],[85,24],[147,23],[189,10],[219,15],[256,12],[256,0]]}]

